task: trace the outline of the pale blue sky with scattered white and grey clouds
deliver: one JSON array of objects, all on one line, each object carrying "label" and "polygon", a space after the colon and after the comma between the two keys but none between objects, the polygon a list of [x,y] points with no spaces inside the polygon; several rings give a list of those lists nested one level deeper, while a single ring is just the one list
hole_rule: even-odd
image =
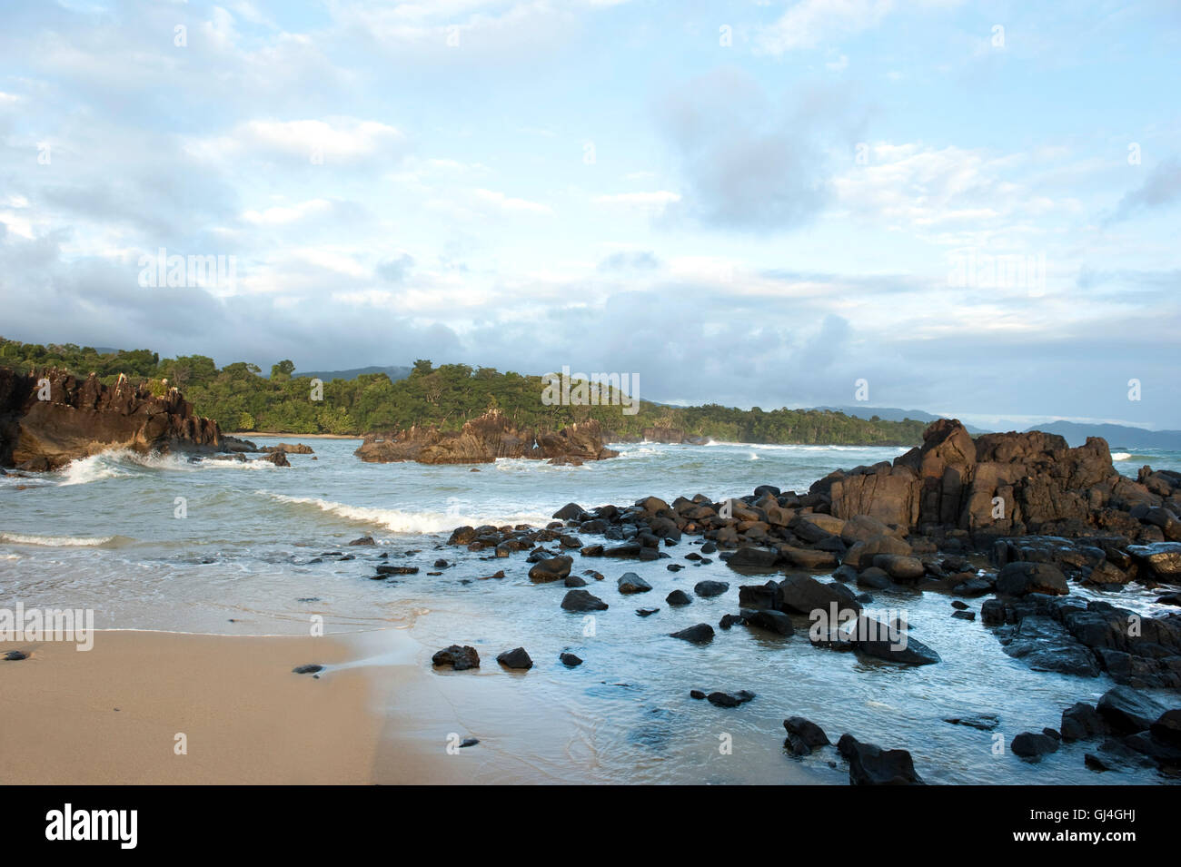
[{"label": "pale blue sky with scattered white and grey clouds", "polygon": [[[1181,428],[1176,2],[5,0],[0,24],[6,337]],[[159,284],[161,250],[224,267]]]}]

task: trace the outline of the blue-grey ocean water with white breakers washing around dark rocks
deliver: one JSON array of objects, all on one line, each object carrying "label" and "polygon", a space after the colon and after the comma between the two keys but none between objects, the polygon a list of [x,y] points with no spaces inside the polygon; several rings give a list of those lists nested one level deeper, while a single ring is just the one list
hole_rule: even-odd
[{"label": "blue-grey ocean water with white breakers washing around dark rocks", "polygon": [[[800,761],[782,751],[783,720],[796,715],[820,723],[834,742],[848,731],[909,749],[928,782],[1161,781],[1151,770],[1087,770],[1082,756],[1095,744],[1064,746],[1037,764],[1007,749],[998,755],[996,735],[1007,744],[1020,731],[1057,728],[1064,708],[1094,703],[1114,684],[1105,676],[1031,671],[979,620],[953,619],[946,596],[875,593],[869,607],[905,611],[912,635],[942,657],[899,668],[813,648],[798,624],[788,638],[742,626],[718,631],[704,646],[670,638],[694,623],[717,628],[724,613],[737,612],[739,584],[765,580],[739,576],[716,556],[693,565],[684,559],[697,550],[693,537],[665,549],[672,559],[654,563],[575,556],[574,573],[606,576],[587,587],[611,606],[593,620],[559,607],[560,582],[530,583],[523,552],[495,559],[445,544],[463,524],[544,525],[569,501],[590,508],[651,494],[722,499],[761,484],[803,492],[833,469],[890,460],[903,448],[628,444],[616,446],[618,459],[581,467],[501,460],[472,472],[365,464],[353,457],[359,440],[282,439],[312,446],[317,460],[291,455],[292,468],[278,468],[111,452],[34,479],[0,477],[0,605],[92,609],[98,629],[307,635],[321,618],[328,635],[397,629],[424,670],[436,650],[472,644],[485,659],[472,689],[482,707],[503,705],[505,728],[518,715],[524,738],[530,715],[563,721],[549,737],[534,733],[514,747],[502,735],[500,742],[502,750],[529,750],[530,774],[554,782],[844,782],[830,756]],[[1133,478],[1143,464],[1181,469],[1175,452],[1113,457]],[[377,546],[347,545],[363,534]],[[352,559],[322,556],[332,552]],[[389,557],[376,559],[381,553]],[[435,570],[438,558],[451,565]],[[670,563],[686,569],[670,572]],[[379,564],[419,572],[373,580]],[[505,577],[482,580],[497,570]],[[621,596],[615,579],[627,571],[654,590]],[[730,591],[679,609],[665,603],[670,591],[691,592],[705,578],[729,582]],[[1097,596],[1078,586],[1071,592]],[[1131,586],[1107,598],[1164,612],[1156,596]],[[981,599],[967,602],[979,611]],[[660,612],[641,618],[641,606]],[[496,653],[518,645],[536,663],[523,677],[495,664]],[[566,650],[583,665],[559,663]],[[748,689],[757,698],[722,709],[691,699],[692,688]],[[981,714],[998,717],[994,731],[944,722]],[[722,754],[727,737],[732,751]],[[496,748],[495,737],[490,743]]]}]

